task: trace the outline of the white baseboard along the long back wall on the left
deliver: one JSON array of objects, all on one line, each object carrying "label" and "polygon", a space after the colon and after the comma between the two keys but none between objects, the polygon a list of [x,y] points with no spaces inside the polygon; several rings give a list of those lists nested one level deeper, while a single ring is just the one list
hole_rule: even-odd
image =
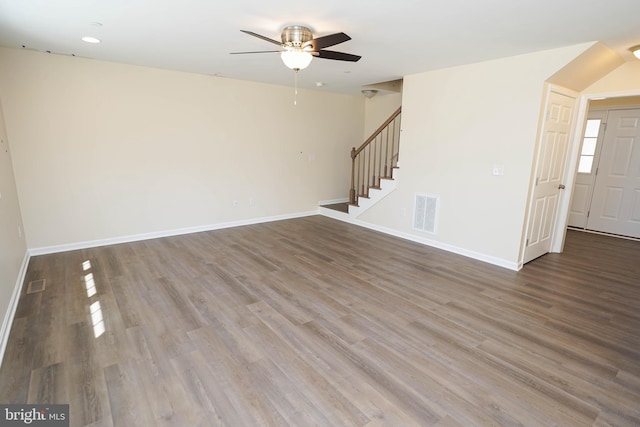
[{"label": "white baseboard along the long back wall on the left", "polygon": [[85,242],[68,243],[64,245],[46,246],[29,250],[31,256],[46,255],[58,252],[74,251],[78,249],[95,248],[98,246],[117,245],[120,243],[137,242],[141,240],[158,239],[161,237],[179,236],[182,234],[200,233],[202,231],[221,230],[223,228],[240,227],[243,225],[260,224],[263,222],[281,221],[285,219],[302,218],[305,216],[317,215],[318,210],[297,212],[293,214],[275,215],[270,217],[252,218],[240,221],[223,222],[218,224],[201,225],[197,227],[186,227],[175,230],[157,231],[153,233],[134,234],[129,236],[114,237],[109,239],[90,240]]}]

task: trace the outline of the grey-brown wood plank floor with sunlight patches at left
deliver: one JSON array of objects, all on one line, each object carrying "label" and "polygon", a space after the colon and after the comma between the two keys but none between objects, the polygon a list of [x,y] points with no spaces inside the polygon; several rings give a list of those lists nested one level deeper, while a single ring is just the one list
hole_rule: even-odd
[{"label": "grey-brown wood plank floor with sunlight patches at left", "polygon": [[72,426],[640,425],[640,242],[516,273],[314,216],[27,276],[0,402]]}]

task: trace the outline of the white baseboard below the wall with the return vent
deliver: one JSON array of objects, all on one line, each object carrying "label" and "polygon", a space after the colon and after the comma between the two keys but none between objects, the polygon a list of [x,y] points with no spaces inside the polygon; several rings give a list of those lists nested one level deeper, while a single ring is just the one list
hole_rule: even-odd
[{"label": "white baseboard below the wall with the return vent", "polygon": [[409,233],[404,233],[398,230],[394,230],[392,228],[387,228],[387,227],[382,227],[376,224],[371,224],[369,222],[365,222],[359,219],[353,219],[351,218],[349,215],[340,215],[335,214],[335,213],[331,213],[329,209],[321,209],[320,213],[322,215],[340,220],[340,221],[344,221],[344,222],[348,222],[350,224],[354,224],[354,225],[358,225],[360,227],[364,227],[364,228],[368,228],[370,230],[375,230],[375,231],[379,231],[381,233],[384,234],[389,234],[391,236],[395,236],[395,237],[399,237],[401,239],[404,240],[410,240],[412,242],[416,242],[416,243],[420,243],[422,245],[425,246],[431,246],[434,247],[436,249],[442,249],[443,251],[447,251],[447,252],[451,252],[457,255],[462,255],[465,256],[467,258],[472,258],[478,261],[482,261],[482,262],[486,262],[488,264],[492,264],[498,267],[502,267],[502,268],[507,268],[509,270],[514,270],[514,271],[518,271],[522,268],[522,265],[516,262],[511,262],[511,261],[507,261],[505,259],[502,258],[497,258],[497,257],[493,257],[490,255],[486,255],[486,254],[482,254],[479,252],[475,252],[475,251],[470,251],[468,249],[464,249],[464,248],[459,248],[457,246],[453,246],[453,245],[448,245],[446,243],[442,243],[442,242],[438,242],[435,240],[430,240],[430,239],[425,239],[423,237],[420,236],[416,236],[413,234],[409,234]]}]

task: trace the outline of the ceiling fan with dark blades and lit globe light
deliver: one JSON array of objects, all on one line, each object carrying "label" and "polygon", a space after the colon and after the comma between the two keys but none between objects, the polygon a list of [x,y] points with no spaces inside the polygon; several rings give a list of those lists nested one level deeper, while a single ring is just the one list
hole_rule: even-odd
[{"label": "ceiling fan with dark blades and lit globe light", "polygon": [[250,54],[250,53],[280,53],[280,57],[284,64],[294,71],[306,68],[313,57],[333,59],[337,61],[357,62],[361,56],[352,55],[350,53],[336,52],[333,50],[325,50],[325,47],[335,46],[351,40],[351,37],[345,33],[335,33],[328,36],[313,38],[311,30],[301,25],[290,25],[282,30],[280,35],[281,41],[265,37],[252,31],[240,30],[250,36],[268,41],[280,46],[280,50],[261,50],[255,52],[231,52],[232,55]]}]

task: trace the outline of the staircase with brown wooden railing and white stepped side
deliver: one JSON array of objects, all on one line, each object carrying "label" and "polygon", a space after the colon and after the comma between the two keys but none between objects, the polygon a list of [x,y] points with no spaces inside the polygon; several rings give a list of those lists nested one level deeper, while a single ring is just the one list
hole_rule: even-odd
[{"label": "staircase with brown wooden railing and white stepped side", "polygon": [[349,215],[359,216],[395,189],[400,142],[398,108],[360,147],[351,150]]}]

